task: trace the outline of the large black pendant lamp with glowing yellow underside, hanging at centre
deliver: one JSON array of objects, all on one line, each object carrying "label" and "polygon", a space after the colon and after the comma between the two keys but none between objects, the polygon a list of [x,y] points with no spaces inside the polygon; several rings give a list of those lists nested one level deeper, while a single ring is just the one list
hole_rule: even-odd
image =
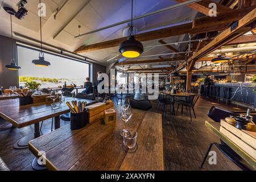
[{"label": "large black pendant lamp with glowing yellow underside, hanging at centre", "polygon": [[133,27],[133,0],[131,0],[131,26],[128,30],[128,40],[122,42],[119,46],[119,52],[122,53],[124,57],[135,58],[139,57],[144,51],[141,42],[135,40],[134,37],[134,27]]}]

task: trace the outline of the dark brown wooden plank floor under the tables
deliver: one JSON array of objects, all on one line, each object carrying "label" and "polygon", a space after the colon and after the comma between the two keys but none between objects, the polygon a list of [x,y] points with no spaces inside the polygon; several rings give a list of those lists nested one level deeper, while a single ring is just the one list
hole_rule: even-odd
[{"label": "dark brown wooden plank floor under the tables", "polygon": [[[219,105],[220,104],[220,105]],[[230,110],[237,106],[213,103],[200,99],[196,105],[197,119],[190,123],[188,113],[184,111],[174,116],[167,109],[166,118],[163,118],[163,144],[165,170],[200,170],[199,166],[211,142],[218,142],[218,138],[205,127],[208,119],[207,111],[211,106],[218,105]],[[156,101],[152,101],[155,112]],[[160,108],[159,113],[162,113]],[[68,122],[61,121],[61,126]],[[43,133],[51,130],[51,120],[43,125]],[[11,170],[32,170],[31,162],[34,155],[28,150],[15,150],[13,143],[28,133],[33,133],[33,126],[24,129],[0,131],[0,156]],[[139,137],[139,136],[138,136]],[[205,164],[203,170],[240,170],[228,160],[216,147],[217,165]],[[159,159],[160,160],[160,159]]]}]

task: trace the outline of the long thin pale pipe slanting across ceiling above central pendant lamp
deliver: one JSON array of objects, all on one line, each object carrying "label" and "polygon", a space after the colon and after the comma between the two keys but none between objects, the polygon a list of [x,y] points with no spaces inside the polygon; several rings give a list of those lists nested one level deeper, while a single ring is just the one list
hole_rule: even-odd
[{"label": "long thin pale pipe slanting across ceiling above central pendant lamp", "polygon": [[[189,0],[189,1],[186,1],[186,2],[178,3],[178,4],[174,5],[174,6],[169,6],[169,7],[166,7],[164,9],[161,9],[161,10],[157,10],[157,11],[153,11],[151,13],[147,13],[147,14],[144,14],[144,15],[141,15],[141,16],[137,16],[137,17],[133,18],[133,20],[145,18],[145,17],[150,16],[150,15],[162,13],[164,11],[176,9],[176,8],[182,7],[182,6],[187,6],[187,5],[190,5],[192,3],[196,3],[196,2],[200,2],[200,1],[202,1],[202,0]],[[106,26],[106,27],[98,28],[97,30],[86,32],[85,34],[81,34],[81,35],[75,36],[75,38],[80,38],[80,37],[85,36],[85,35],[93,34],[95,32],[106,30],[108,28],[112,28],[112,27],[118,26],[120,24],[129,23],[129,22],[131,22],[131,19],[123,20],[122,22],[114,23],[114,24],[111,24],[111,25]]]}]

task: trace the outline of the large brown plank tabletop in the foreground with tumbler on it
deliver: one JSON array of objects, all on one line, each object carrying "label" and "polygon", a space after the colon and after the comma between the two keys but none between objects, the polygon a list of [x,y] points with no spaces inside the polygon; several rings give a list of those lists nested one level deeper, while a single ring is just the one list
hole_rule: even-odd
[{"label": "large brown plank tabletop in the foreground with tumbler on it", "polygon": [[30,141],[30,150],[37,157],[39,151],[46,152],[46,167],[50,170],[163,170],[162,115],[133,109],[133,117],[127,125],[138,133],[138,148],[128,153],[122,148],[120,107],[115,106],[115,110],[115,125],[96,121],[74,131],[70,125],[65,125]]}]

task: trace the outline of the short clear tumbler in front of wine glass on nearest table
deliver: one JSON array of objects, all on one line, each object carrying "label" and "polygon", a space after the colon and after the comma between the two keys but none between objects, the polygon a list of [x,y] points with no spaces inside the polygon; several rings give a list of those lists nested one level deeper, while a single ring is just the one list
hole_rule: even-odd
[{"label": "short clear tumbler in front of wine glass on nearest table", "polygon": [[137,132],[130,130],[130,135],[123,137],[123,146],[127,152],[134,152],[137,149]]}]

